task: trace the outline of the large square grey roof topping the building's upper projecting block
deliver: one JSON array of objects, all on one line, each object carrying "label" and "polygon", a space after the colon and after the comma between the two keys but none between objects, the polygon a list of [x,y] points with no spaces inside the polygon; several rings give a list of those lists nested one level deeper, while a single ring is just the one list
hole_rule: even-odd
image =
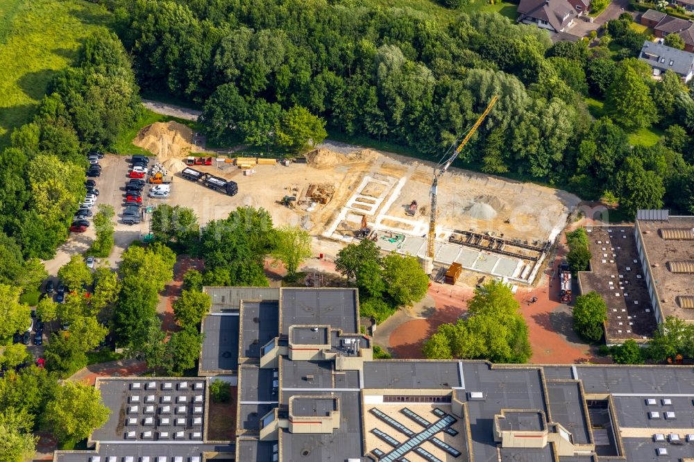
[{"label": "large square grey roof topping the building's upper projecting block", "polygon": [[282,289],[282,334],[290,325],[330,325],[357,333],[356,289]]}]

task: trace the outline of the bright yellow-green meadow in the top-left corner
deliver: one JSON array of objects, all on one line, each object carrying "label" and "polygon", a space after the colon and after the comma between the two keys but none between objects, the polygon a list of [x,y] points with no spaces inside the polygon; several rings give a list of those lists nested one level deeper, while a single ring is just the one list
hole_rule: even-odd
[{"label": "bright yellow-green meadow in the top-left corner", "polygon": [[0,0],[0,148],[26,123],[81,41],[106,33],[109,13],[81,0]]}]

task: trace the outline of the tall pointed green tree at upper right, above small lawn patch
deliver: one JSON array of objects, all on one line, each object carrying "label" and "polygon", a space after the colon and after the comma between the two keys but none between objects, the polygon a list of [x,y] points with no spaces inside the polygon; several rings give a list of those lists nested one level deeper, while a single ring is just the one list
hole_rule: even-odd
[{"label": "tall pointed green tree at upper right, above small lawn patch", "polygon": [[648,86],[632,67],[625,65],[607,90],[604,111],[629,131],[648,127],[658,119]]}]

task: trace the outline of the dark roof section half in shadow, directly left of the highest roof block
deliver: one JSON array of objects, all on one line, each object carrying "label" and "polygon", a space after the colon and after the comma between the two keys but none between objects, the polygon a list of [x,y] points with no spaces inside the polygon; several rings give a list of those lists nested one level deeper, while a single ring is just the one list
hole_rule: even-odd
[{"label": "dark roof section half in shadow, directly left of the highest roof block", "polygon": [[260,358],[260,348],[278,335],[277,302],[244,302],[242,309],[241,356]]}]

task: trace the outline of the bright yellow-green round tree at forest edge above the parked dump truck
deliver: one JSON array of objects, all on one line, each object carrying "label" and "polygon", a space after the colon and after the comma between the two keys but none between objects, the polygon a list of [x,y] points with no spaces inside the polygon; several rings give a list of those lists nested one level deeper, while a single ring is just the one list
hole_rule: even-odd
[{"label": "bright yellow-green round tree at forest edge above the parked dump truck", "polygon": [[277,144],[292,153],[300,153],[323,142],[328,136],[325,121],[306,108],[289,108],[275,126]]}]

